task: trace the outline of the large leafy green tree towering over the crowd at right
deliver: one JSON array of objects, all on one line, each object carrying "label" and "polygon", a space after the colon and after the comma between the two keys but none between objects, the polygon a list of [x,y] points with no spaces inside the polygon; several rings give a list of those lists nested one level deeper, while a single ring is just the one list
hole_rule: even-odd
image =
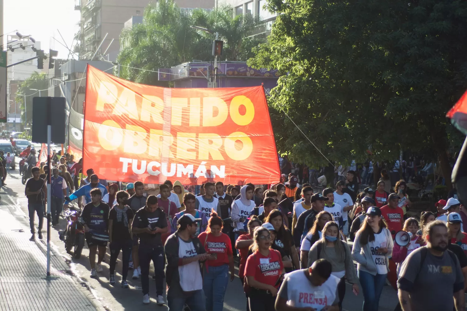
[{"label": "large leafy green tree towering over the crowd at right", "polygon": [[249,64],[287,75],[271,92],[281,152],[327,164],[284,110],[332,161],[377,161],[399,151],[438,159],[459,134],[446,112],[467,86],[467,3],[457,0],[329,2],[269,0],[279,13]]}]

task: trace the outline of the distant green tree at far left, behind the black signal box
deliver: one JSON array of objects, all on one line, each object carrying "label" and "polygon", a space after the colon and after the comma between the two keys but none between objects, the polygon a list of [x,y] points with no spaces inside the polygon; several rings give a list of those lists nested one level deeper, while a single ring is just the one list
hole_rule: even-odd
[{"label": "distant green tree at far left, behind the black signal box", "polygon": [[[39,96],[38,91],[32,91],[31,89],[45,90],[48,87],[49,78],[47,78],[47,74],[45,72],[38,73],[37,71],[19,85],[16,91],[16,101],[21,102],[21,121],[24,122],[25,127],[28,127],[28,124],[30,125],[32,123],[32,100],[34,97]],[[26,95],[26,106],[23,95]],[[41,96],[48,96],[48,90],[41,91]],[[26,120],[26,117],[28,120]]]}]

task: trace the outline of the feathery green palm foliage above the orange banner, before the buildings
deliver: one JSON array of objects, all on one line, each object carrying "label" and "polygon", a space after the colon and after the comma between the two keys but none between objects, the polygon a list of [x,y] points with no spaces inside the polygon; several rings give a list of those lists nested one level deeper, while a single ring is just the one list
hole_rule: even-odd
[{"label": "feathery green palm foliage above the orange banner, before the buildings", "polygon": [[[190,62],[193,59],[212,61],[214,36],[191,28],[199,26],[219,32],[224,40],[223,60],[243,60],[253,54],[251,49],[258,39],[248,38],[259,25],[251,15],[233,17],[231,7],[219,7],[210,12],[195,9],[181,12],[173,0],[161,0],[146,7],[143,23],[123,30],[120,36],[122,49],[118,63],[124,66],[157,71],[158,68]],[[157,73],[120,67],[120,77],[137,83],[163,85]]]}]

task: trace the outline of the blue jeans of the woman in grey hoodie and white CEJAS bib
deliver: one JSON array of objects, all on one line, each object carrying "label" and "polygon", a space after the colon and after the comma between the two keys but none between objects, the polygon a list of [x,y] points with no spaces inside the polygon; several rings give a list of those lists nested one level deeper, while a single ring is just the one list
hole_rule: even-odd
[{"label": "blue jeans of the woman in grey hoodie and white CEJAS bib", "polygon": [[372,275],[366,271],[357,271],[363,291],[363,311],[378,311],[379,298],[382,293],[387,274]]}]

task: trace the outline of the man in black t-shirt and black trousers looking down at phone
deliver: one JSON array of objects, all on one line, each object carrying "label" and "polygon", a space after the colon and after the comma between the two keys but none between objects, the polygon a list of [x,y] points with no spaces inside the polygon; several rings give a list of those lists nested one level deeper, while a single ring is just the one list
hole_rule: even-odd
[{"label": "man in black t-shirt and black trousers looking down at phone", "polygon": [[156,277],[157,304],[165,304],[163,298],[164,285],[164,247],[161,235],[167,233],[165,213],[157,206],[157,197],[150,195],[146,206],[134,215],[131,232],[137,233],[139,238],[138,255],[141,267],[141,286],[143,290],[143,304],[149,304],[149,264],[154,262]]}]

